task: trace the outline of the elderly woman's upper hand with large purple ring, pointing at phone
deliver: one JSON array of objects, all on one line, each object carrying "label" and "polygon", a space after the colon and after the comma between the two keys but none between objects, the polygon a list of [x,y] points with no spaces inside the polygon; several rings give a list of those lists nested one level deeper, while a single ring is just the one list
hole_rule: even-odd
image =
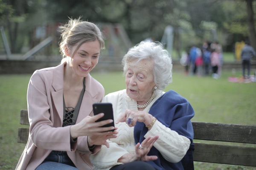
[{"label": "elderly woman's upper hand with large purple ring, pointing at phone", "polygon": [[[132,121],[127,122],[128,118],[132,118]],[[132,111],[126,109],[125,113],[122,113],[116,120],[116,124],[118,124],[119,122],[126,122],[128,126],[133,127],[136,125],[136,122],[138,121],[143,122],[145,125],[149,125],[153,121],[153,119],[153,116],[145,111]]]}]

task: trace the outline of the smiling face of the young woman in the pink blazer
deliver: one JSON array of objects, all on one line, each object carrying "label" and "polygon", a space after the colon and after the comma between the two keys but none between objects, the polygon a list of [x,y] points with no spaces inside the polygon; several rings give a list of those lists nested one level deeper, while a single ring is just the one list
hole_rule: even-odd
[{"label": "smiling face of the young woman in the pink blazer", "polygon": [[87,77],[99,60],[99,41],[84,42],[77,50],[76,48],[77,45],[67,51],[70,67],[77,76]]}]

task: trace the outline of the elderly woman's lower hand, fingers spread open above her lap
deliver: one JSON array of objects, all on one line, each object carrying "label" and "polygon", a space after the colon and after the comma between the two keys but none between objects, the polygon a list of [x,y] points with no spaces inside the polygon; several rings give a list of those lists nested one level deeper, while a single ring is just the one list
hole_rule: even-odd
[{"label": "elderly woman's lower hand, fingers spread open above her lap", "polygon": [[141,144],[137,143],[135,146],[135,154],[126,153],[121,158],[118,159],[118,162],[128,163],[132,161],[154,161],[157,160],[157,156],[147,156],[154,142],[158,139],[158,136],[148,137]]}]

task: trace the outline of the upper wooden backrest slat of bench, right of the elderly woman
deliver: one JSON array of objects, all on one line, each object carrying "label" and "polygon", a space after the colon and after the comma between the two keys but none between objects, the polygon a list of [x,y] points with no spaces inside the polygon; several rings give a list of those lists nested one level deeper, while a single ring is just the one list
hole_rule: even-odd
[{"label": "upper wooden backrest slat of bench, right of the elderly woman", "polygon": [[192,122],[194,139],[256,144],[256,126]]}]

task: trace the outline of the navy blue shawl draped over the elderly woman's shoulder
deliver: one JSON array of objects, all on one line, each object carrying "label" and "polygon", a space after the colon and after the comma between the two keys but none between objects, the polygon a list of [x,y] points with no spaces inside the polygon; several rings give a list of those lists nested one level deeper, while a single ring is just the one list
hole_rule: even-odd
[{"label": "navy blue shawl draped over the elderly woman's shoulder", "polygon": [[[168,91],[163,94],[156,102],[151,106],[149,113],[155,116],[159,122],[166,127],[170,127],[171,130],[175,130],[180,135],[186,136],[190,139],[190,148],[193,149],[194,132],[190,119],[195,115],[192,106],[189,102],[175,91]],[[143,142],[144,136],[148,132],[148,128],[145,127],[143,122],[136,122],[134,127],[134,139],[135,143]],[[186,166],[193,167],[192,150],[187,152],[183,160],[177,163],[171,163],[163,158],[161,153],[153,146],[148,153],[148,156],[157,156],[155,161],[148,161],[158,170],[184,170]],[[188,162],[189,161],[189,162]],[[192,161],[192,162],[191,162]],[[189,168],[188,168],[189,169]]]}]

